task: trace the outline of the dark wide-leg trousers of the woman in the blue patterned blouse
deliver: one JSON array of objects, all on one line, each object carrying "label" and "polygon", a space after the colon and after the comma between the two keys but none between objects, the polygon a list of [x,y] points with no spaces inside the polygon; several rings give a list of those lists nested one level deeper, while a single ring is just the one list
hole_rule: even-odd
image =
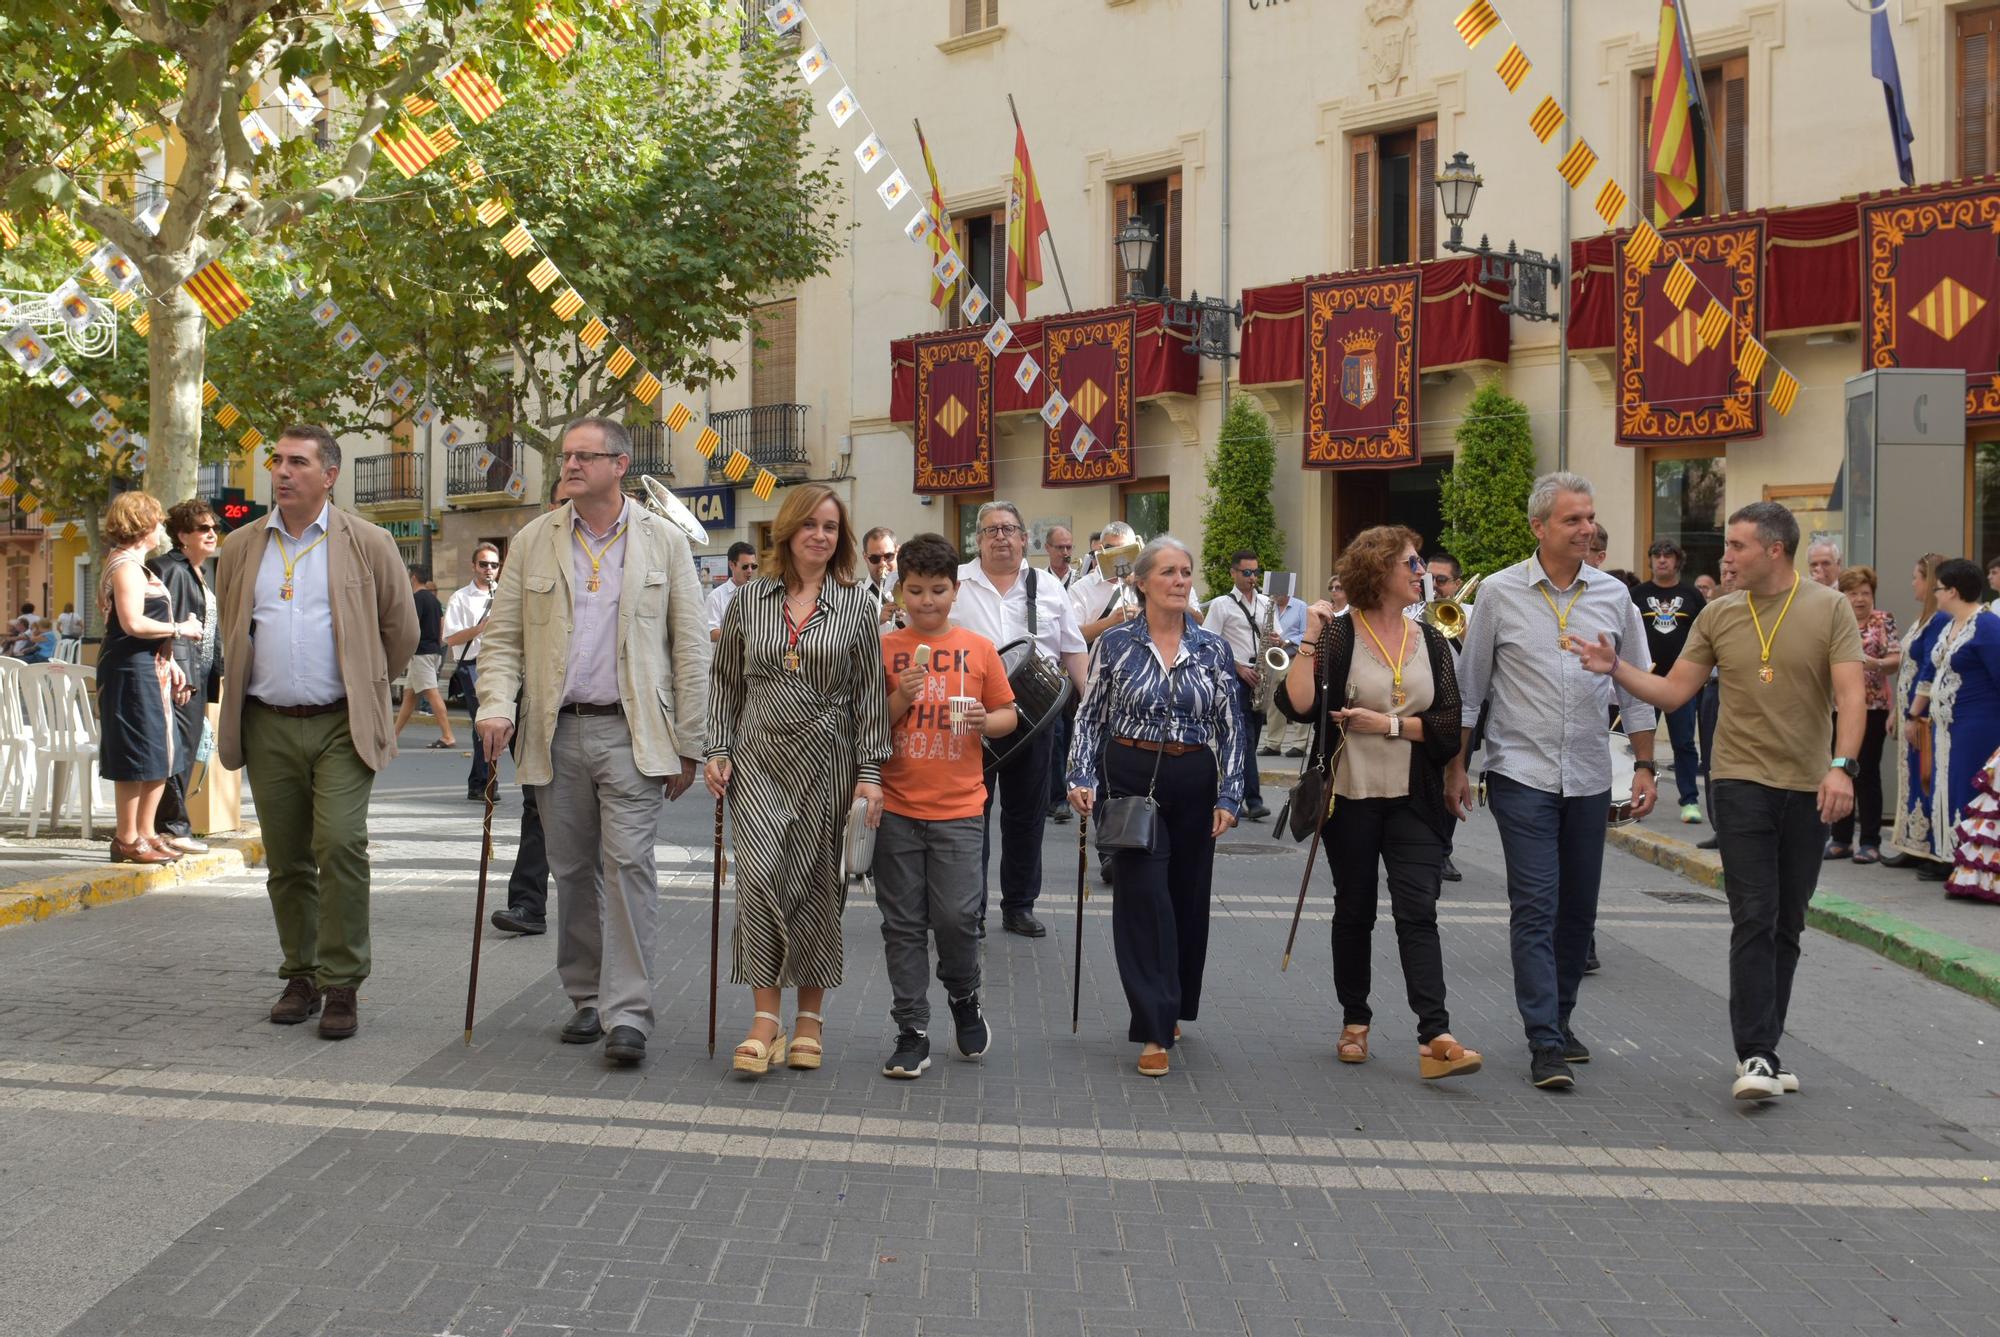
[{"label": "dark wide-leg trousers of the woman in the blue patterned blouse", "polygon": [[1126,1039],[1174,1047],[1174,1023],[1202,1011],[1208,965],[1208,887],[1216,865],[1216,755],[1160,757],[1112,743],[1104,749],[1104,795],[1144,795],[1154,763],[1160,779],[1158,853],[1112,855],[1112,947],[1132,1025]]}]

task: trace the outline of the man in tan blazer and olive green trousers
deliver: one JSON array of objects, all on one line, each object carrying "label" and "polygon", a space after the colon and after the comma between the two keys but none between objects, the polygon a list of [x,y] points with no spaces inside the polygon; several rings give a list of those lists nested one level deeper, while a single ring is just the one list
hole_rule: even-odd
[{"label": "man in tan blazer and olive green trousers", "polygon": [[216,560],[224,658],[216,751],[250,769],[266,889],[284,949],[278,1025],[318,1013],[346,1039],[368,979],[368,797],[396,755],[390,679],[416,648],[416,602],[396,540],[332,504],[340,446],[288,426],[272,512]]}]

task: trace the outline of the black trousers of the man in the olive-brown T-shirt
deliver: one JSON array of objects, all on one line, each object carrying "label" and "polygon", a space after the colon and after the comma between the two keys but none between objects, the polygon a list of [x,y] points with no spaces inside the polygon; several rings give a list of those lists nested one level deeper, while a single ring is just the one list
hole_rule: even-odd
[{"label": "black trousers of the man in the olive-brown T-shirt", "polygon": [[1716,843],[1730,899],[1730,1035],[1736,1057],[1778,1055],[1792,1007],[1806,903],[1820,883],[1820,797],[1716,781]]}]

